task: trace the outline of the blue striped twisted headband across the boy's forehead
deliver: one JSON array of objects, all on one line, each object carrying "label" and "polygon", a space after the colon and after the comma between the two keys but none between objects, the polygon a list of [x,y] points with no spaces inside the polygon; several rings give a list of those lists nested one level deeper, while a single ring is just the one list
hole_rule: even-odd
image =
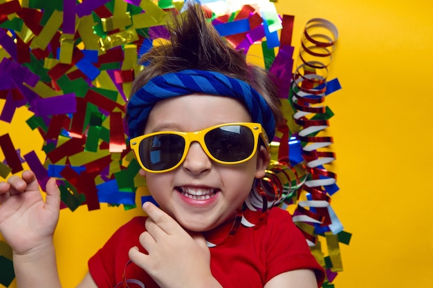
[{"label": "blue striped twisted headband across the boy's forehead", "polygon": [[183,70],[150,79],[129,99],[127,106],[129,137],[142,135],[147,117],[156,102],[195,93],[239,100],[249,111],[252,122],[260,123],[269,140],[273,140],[275,119],[270,107],[257,90],[245,81],[206,70]]}]

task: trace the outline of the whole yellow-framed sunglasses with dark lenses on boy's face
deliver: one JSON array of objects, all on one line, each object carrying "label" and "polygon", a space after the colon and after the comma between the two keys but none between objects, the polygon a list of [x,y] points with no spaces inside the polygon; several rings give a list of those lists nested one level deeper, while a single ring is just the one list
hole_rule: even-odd
[{"label": "whole yellow-framed sunglasses with dark lenses on boy's face", "polygon": [[147,172],[163,173],[180,166],[192,142],[199,142],[210,159],[219,164],[239,164],[252,158],[261,139],[269,141],[261,124],[227,123],[196,132],[160,131],[134,137],[131,149]]}]

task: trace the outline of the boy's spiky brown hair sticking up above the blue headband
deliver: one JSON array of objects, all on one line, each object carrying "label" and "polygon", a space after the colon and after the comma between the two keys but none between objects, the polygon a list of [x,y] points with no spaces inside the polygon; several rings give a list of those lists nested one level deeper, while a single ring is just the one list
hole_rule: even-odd
[{"label": "boy's spiky brown hair sticking up above the blue headband", "polygon": [[210,70],[246,81],[268,102],[277,125],[282,122],[278,90],[268,72],[248,64],[243,52],[228,46],[208,23],[200,6],[185,5],[185,12],[174,15],[167,24],[170,41],[153,46],[140,58],[140,64],[146,66],[133,81],[131,95],[159,75],[187,69]]}]

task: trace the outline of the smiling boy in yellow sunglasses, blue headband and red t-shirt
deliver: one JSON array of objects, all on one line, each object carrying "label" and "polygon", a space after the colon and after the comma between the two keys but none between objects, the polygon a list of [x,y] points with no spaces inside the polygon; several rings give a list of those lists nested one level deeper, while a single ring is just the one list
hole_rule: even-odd
[{"label": "smiling boy in yellow sunglasses, blue headband and red t-shirt", "polygon": [[[317,287],[324,272],[288,212],[273,208],[254,227],[241,225],[282,120],[275,86],[198,8],[169,32],[170,44],[142,57],[127,106],[131,148],[160,208],[143,204],[149,217],[116,231],[79,287]],[[54,180],[46,191],[44,203],[30,171],[0,183],[0,232],[19,287],[60,287]]]}]

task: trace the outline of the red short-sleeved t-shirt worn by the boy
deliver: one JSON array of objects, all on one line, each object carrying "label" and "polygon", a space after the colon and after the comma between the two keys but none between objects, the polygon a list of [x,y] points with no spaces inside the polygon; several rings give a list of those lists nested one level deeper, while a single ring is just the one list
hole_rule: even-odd
[{"label": "red short-sleeved t-shirt worn by the boy", "polygon": [[[120,227],[104,247],[89,260],[89,271],[100,288],[112,288],[122,282],[128,251],[142,249],[138,236],[145,231],[145,217],[136,217]],[[270,209],[255,227],[239,227],[234,236],[210,248],[212,275],[224,287],[263,288],[271,278],[296,269],[315,271],[322,285],[324,270],[317,263],[291,215],[282,209]],[[126,278],[144,283],[146,288],[158,285],[145,271],[131,263]],[[134,286],[132,286],[134,287]]]}]

